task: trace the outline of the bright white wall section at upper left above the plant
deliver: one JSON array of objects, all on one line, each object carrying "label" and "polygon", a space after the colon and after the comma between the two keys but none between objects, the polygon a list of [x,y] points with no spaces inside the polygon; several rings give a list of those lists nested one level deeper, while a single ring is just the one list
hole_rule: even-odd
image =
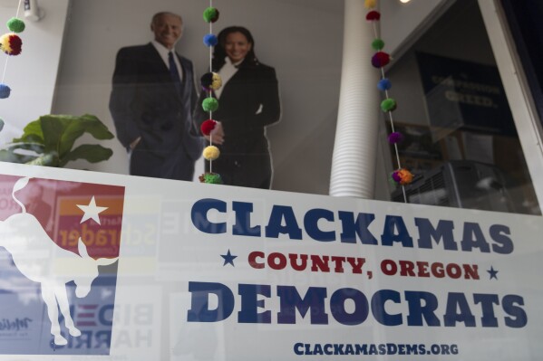
[{"label": "bright white wall section at upper left above the plant", "polygon": [[[5,121],[0,144],[21,136],[26,123],[51,112],[69,0],[39,1],[44,11],[39,22],[25,20],[23,5],[17,7],[19,3],[0,0],[2,26],[16,14],[26,25],[19,33],[23,41],[21,54],[8,56],[0,52],[0,82],[12,89],[9,98],[0,100],[0,118]],[[5,26],[1,33],[7,32]]]}]

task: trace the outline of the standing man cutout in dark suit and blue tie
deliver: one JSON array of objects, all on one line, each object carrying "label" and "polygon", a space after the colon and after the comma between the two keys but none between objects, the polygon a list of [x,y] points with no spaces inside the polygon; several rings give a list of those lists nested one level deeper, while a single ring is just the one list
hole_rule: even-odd
[{"label": "standing man cutout in dark suit and blue tie", "polygon": [[117,138],[129,151],[131,175],[190,181],[203,140],[191,118],[192,62],[174,49],[182,19],[158,13],[150,29],[152,42],[117,53],[110,98]]}]

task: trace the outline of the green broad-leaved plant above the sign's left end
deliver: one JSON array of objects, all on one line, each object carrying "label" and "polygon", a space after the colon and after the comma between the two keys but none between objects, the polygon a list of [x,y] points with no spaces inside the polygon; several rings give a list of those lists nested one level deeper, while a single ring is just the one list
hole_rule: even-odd
[{"label": "green broad-leaved plant above the sign's left end", "polygon": [[97,163],[112,157],[112,149],[99,144],[82,144],[73,148],[75,140],[85,133],[99,140],[114,137],[93,115],[44,115],[28,123],[20,138],[14,138],[0,150],[0,160],[62,167],[76,159]]}]

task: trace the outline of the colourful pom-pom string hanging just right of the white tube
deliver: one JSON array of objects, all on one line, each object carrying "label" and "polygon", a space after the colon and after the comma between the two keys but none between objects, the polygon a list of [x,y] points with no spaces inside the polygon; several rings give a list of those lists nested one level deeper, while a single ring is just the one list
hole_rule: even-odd
[{"label": "colourful pom-pom string hanging just right of the white tube", "polygon": [[374,40],[372,42],[372,47],[373,50],[375,50],[376,52],[373,54],[372,57],[372,65],[373,67],[378,68],[381,71],[381,77],[380,81],[377,83],[377,88],[384,93],[384,100],[381,102],[381,109],[388,116],[388,119],[390,121],[392,133],[389,134],[388,141],[394,147],[396,164],[398,166],[396,170],[394,170],[391,174],[391,180],[396,185],[402,185],[403,201],[407,203],[407,195],[405,194],[404,185],[409,185],[410,183],[412,183],[413,176],[409,170],[402,168],[402,163],[400,161],[398,143],[402,141],[403,135],[402,133],[397,132],[394,128],[393,111],[396,109],[396,100],[394,100],[389,94],[392,83],[385,77],[383,69],[383,67],[391,61],[391,57],[388,53],[383,52],[384,42],[379,37],[379,33],[377,31],[376,23],[381,19],[381,14],[376,10],[373,10],[377,5],[376,3],[376,0],[365,0],[364,2],[365,7],[370,10],[370,12],[366,14],[366,20],[372,22],[373,24]]}]

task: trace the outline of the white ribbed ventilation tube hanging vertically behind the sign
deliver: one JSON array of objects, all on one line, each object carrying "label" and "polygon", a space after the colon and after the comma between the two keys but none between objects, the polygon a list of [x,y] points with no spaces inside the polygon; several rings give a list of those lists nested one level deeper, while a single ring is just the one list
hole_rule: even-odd
[{"label": "white ribbed ventilation tube hanging vertically behind the sign", "polygon": [[373,198],[380,95],[373,24],[364,0],[345,0],[344,52],[330,195]]}]

